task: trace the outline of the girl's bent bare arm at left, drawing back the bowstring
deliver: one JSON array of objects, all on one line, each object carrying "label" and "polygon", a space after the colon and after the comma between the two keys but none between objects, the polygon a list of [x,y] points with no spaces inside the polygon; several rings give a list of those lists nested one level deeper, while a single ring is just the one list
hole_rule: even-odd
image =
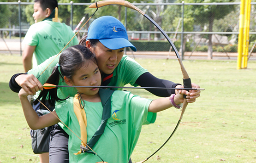
[{"label": "girl's bent bare arm at left, drawing back the bowstring", "polygon": [[42,129],[60,122],[55,111],[53,113],[58,118],[56,118],[52,113],[39,117],[27,98],[28,93],[23,89],[19,91],[18,96],[23,108],[24,116],[31,129]]}]

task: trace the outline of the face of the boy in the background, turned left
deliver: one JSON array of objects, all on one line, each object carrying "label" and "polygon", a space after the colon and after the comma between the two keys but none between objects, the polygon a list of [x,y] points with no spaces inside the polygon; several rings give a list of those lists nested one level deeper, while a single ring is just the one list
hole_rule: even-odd
[{"label": "face of the boy in the background, turned left", "polygon": [[42,20],[44,20],[46,17],[48,17],[49,11],[50,9],[47,8],[45,11],[43,11],[43,9],[41,8],[40,6],[40,2],[36,2],[34,4],[34,13],[33,13],[33,17],[34,17],[34,20],[35,20],[35,23],[36,22],[41,22]]}]

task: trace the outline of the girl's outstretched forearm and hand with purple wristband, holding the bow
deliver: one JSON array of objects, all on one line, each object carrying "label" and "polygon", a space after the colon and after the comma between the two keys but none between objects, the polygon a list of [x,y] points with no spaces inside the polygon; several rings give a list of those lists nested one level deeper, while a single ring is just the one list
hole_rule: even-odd
[{"label": "girl's outstretched forearm and hand with purple wristband, holding the bow", "polygon": [[[189,92],[186,90],[179,90],[178,94],[174,96],[174,102],[176,105],[182,103],[184,101],[183,94],[189,95]],[[172,103],[170,102],[170,97],[159,98],[153,100],[149,105],[149,112],[161,112],[166,110],[170,107],[173,107]]]}]

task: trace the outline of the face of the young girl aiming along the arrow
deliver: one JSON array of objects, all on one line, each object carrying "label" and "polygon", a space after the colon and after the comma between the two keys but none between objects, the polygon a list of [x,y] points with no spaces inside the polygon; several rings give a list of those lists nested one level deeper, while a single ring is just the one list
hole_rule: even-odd
[{"label": "face of the young girl aiming along the arrow", "polygon": [[[101,73],[94,62],[88,62],[86,66],[78,69],[71,80],[65,77],[64,79],[68,85],[101,86]],[[99,88],[77,88],[77,90],[86,98],[93,98],[98,93]]]}]

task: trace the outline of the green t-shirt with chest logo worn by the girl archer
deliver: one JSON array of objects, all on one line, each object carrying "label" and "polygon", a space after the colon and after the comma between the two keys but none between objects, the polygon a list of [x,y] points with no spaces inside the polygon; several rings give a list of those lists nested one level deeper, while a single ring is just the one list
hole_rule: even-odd
[{"label": "green t-shirt with chest logo worn by the girl archer", "polygon": [[[103,90],[104,91],[104,90]],[[80,137],[80,126],[73,111],[73,98],[56,104],[59,118]],[[93,147],[93,150],[108,163],[128,163],[139,138],[143,124],[155,122],[156,113],[148,112],[152,100],[132,95],[128,91],[114,91],[111,96],[112,116],[107,120],[104,134]],[[87,142],[101,124],[103,107],[101,102],[85,101],[87,118]],[[99,157],[90,153],[81,153],[81,140],[69,129],[63,128],[69,135],[69,158],[71,163],[96,163]]]}]

